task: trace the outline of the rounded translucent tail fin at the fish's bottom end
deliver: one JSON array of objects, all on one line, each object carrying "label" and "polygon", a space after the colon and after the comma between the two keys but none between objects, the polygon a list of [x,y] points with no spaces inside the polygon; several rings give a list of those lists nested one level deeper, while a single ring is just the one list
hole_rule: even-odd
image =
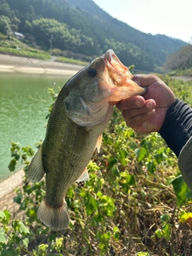
[{"label": "rounded translucent tail fin at the fish's bottom end", "polygon": [[62,206],[52,207],[44,198],[38,207],[38,218],[53,230],[64,230],[70,223],[70,215],[65,201]]}]

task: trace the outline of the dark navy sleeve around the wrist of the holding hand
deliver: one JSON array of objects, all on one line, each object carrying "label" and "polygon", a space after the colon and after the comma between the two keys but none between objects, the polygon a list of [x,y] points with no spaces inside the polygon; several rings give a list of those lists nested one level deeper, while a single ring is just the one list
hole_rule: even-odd
[{"label": "dark navy sleeve around the wrist of the holding hand", "polygon": [[167,110],[165,121],[158,132],[178,157],[182,147],[192,137],[192,109],[190,106],[176,98]]}]

